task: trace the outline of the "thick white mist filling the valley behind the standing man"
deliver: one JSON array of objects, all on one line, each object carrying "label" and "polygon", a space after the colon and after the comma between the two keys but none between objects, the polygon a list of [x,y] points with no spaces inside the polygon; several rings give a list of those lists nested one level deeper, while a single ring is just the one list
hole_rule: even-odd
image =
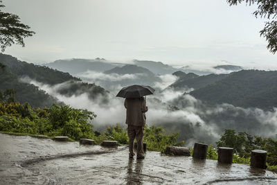
[{"label": "thick white mist filling the valley behind the standing man", "polygon": [[[116,123],[125,125],[124,99],[115,97],[118,90],[91,99],[86,93],[73,96],[59,94],[59,89],[68,85],[68,82],[51,86],[30,78],[21,80],[36,85],[67,105],[95,112],[97,117],[93,120],[93,125],[99,130]],[[147,96],[146,103],[149,107],[146,113],[148,125],[159,125],[168,132],[179,132],[180,140],[185,140],[186,146],[193,146],[195,141],[215,143],[224,130],[229,128],[266,137],[274,137],[277,130],[277,108],[263,111],[229,104],[211,106],[184,94],[184,91],[172,89]]]}]

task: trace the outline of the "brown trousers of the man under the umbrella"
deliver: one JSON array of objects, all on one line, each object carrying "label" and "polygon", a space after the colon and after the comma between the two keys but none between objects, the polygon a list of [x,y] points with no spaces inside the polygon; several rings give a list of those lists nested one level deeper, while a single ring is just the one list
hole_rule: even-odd
[{"label": "brown trousers of the man under the umbrella", "polygon": [[129,155],[134,155],[134,139],[136,138],[137,156],[142,156],[144,126],[128,125],[127,132],[129,136]]}]

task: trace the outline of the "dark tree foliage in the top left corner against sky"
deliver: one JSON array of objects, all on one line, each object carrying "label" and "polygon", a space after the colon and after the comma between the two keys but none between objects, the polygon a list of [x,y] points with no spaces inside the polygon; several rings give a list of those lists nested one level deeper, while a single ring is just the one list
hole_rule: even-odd
[{"label": "dark tree foliage in the top left corner against sky", "polygon": [[3,12],[4,8],[0,1],[0,47],[4,52],[8,46],[19,44],[25,46],[24,38],[33,36],[35,32],[30,31],[30,26],[22,24],[18,15]]}]

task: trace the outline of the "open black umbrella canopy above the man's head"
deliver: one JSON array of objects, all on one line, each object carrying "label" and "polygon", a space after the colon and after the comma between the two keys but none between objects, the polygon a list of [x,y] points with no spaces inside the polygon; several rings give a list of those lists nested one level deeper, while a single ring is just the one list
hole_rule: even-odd
[{"label": "open black umbrella canopy above the man's head", "polygon": [[153,94],[154,91],[155,89],[150,86],[131,85],[128,87],[123,87],[116,96],[122,98],[140,98],[146,95]]}]

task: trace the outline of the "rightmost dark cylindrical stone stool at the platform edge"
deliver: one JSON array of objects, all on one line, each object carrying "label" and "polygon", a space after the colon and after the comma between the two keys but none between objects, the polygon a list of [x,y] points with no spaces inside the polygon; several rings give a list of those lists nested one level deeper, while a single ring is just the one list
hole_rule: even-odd
[{"label": "rightmost dark cylindrical stone stool at the platform edge", "polygon": [[265,150],[252,150],[250,166],[255,168],[266,169],[267,151]]}]

